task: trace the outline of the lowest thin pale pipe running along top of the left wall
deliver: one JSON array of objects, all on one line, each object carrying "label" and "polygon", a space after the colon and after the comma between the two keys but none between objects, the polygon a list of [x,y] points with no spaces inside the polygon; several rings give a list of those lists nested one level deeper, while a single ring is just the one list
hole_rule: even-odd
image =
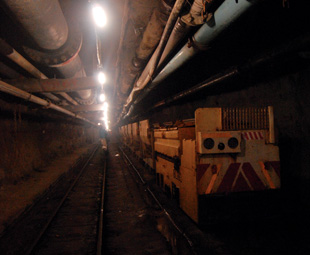
[{"label": "lowest thin pale pipe running along top of the left wall", "polygon": [[19,97],[19,98],[22,98],[26,101],[29,101],[29,102],[32,102],[32,103],[35,103],[35,104],[38,104],[38,105],[41,105],[41,106],[44,106],[46,107],[47,109],[53,109],[55,111],[58,111],[58,112],[61,112],[61,113],[64,113],[66,115],[69,115],[73,118],[76,118],[76,119],[80,119],[80,120],[83,120],[85,122],[88,122],[94,126],[96,126],[95,123],[89,121],[88,119],[78,115],[78,114],[75,114],[71,111],[68,111],[58,105],[55,105],[47,100],[44,100],[40,97],[37,97],[37,96],[34,96],[26,91],[23,91],[21,89],[18,89],[10,84],[7,84],[3,81],[0,81],[0,91],[1,92],[4,92],[4,93],[7,93],[7,94],[10,94],[12,96],[15,96],[15,97]]}]

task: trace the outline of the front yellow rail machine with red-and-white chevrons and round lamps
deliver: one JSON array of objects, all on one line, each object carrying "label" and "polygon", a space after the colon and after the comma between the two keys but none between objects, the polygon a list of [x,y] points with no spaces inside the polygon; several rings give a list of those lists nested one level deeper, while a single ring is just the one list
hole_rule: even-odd
[{"label": "front yellow rail machine with red-and-white chevrons and round lamps", "polygon": [[240,194],[280,188],[272,107],[200,108],[193,125],[155,129],[154,148],[157,183],[194,221],[202,222],[219,197],[233,197],[225,208],[232,210],[242,196],[251,204]]}]

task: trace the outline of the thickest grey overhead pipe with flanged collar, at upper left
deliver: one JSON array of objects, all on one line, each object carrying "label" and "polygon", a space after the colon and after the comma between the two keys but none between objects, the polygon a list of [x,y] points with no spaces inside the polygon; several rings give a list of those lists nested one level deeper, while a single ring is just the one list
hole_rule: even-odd
[{"label": "thickest grey overhead pipe with flanged collar, at upper left", "polygon": [[[56,68],[65,78],[84,77],[85,70],[78,56],[82,35],[68,24],[58,0],[4,0],[16,19],[37,43],[38,49],[25,52],[36,62]],[[80,103],[93,103],[91,91],[79,91]],[[67,96],[65,96],[67,97]]]}]

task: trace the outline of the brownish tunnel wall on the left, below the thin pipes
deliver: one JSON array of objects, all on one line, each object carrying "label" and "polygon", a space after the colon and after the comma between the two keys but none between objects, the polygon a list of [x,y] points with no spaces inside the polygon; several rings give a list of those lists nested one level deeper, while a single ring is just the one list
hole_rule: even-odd
[{"label": "brownish tunnel wall on the left, below the thin pipes", "polygon": [[0,99],[0,186],[74,149],[98,141],[98,129],[62,115]]}]

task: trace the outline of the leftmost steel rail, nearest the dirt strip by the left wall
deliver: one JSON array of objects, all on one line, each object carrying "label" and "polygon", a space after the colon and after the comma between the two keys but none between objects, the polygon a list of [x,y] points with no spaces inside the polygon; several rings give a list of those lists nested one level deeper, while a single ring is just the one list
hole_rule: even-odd
[{"label": "leftmost steel rail, nearest the dirt strip by the left wall", "polygon": [[68,188],[68,190],[66,191],[66,194],[63,196],[63,198],[61,199],[61,201],[59,202],[57,208],[53,211],[52,215],[49,217],[48,221],[46,222],[46,224],[43,226],[42,230],[40,231],[40,233],[38,234],[37,238],[33,241],[33,243],[31,244],[30,248],[28,248],[28,250],[26,251],[25,255],[30,255],[32,254],[34,248],[37,246],[37,244],[40,242],[41,238],[43,237],[43,235],[45,234],[46,230],[48,229],[48,227],[50,226],[50,224],[52,223],[52,221],[54,220],[56,214],[58,213],[58,211],[60,210],[60,208],[62,207],[62,205],[64,204],[65,200],[67,199],[68,195],[70,194],[70,192],[72,191],[72,189],[75,187],[76,183],[78,182],[78,180],[80,179],[81,175],[84,173],[84,170],[86,169],[89,161],[93,158],[93,156],[95,155],[96,151],[99,148],[99,144],[94,148],[94,150],[91,152],[89,158],[87,159],[86,163],[83,165],[83,167],[81,168],[80,172],[78,173],[77,177],[75,178],[74,182],[70,185],[70,187]]}]

